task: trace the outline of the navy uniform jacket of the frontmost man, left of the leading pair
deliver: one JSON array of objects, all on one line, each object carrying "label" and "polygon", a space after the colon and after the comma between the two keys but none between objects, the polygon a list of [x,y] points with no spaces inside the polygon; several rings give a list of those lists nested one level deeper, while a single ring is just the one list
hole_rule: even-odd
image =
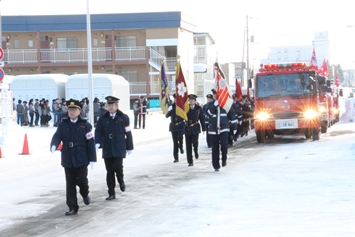
[{"label": "navy uniform jacket of the frontmost man, left of the leading pair", "polygon": [[78,117],[76,123],[69,118],[63,119],[54,133],[51,146],[58,147],[62,142],[62,166],[77,168],[96,162],[96,150],[92,126],[85,119]]}]

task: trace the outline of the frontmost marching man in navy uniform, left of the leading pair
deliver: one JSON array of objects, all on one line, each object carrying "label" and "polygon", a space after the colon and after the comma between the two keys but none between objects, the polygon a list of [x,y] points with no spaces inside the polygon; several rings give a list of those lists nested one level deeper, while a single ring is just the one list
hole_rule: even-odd
[{"label": "frontmost marching man in navy uniform, left of the leading pair", "polygon": [[88,168],[93,168],[96,162],[94,136],[92,126],[80,117],[82,105],[78,100],[69,100],[68,116],[63,119],[54,133],[51,141],[51,152],[54,153],[62,142],[61,164],[65,171],[66,199],[69,211],[65,213],[71,216],[78,213],[79,205],[76,197],[76,185],[80,188],[80,194],[84,203],[89,205]]}]

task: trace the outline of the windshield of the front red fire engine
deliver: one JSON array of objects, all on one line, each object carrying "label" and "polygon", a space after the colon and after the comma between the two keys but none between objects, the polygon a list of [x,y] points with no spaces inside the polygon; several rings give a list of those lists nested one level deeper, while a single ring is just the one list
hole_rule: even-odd
[{"label": "windshield of the front red fire engine", "polygon": [[315,81],[309,73],[257,75],[255,96],[310,96],[315,90]]}]

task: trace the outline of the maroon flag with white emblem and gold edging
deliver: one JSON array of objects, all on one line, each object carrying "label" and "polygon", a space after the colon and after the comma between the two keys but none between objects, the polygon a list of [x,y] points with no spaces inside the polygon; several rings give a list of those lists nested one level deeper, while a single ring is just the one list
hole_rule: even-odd
[{"label": "maroon flag with white emblem and gold edging", "polygon": [[188,102],[188,91],[180,62],[176,64],[176,115],[187,120],[187,112],[190,109]]}]

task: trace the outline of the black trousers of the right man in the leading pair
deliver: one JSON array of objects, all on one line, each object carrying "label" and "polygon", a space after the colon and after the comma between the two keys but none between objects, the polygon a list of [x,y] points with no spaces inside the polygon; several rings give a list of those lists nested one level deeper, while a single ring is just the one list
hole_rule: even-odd
[{"label": "black trousers of the right man in the leading pair", "polygon": [[106,167],[106,184],[108,188],[109,195],[115,195],[115,174],[117,177],[117,182],[119,184],[124,183],[123,181],[123,158],[112,157],[105,158],[105,167]]}]

